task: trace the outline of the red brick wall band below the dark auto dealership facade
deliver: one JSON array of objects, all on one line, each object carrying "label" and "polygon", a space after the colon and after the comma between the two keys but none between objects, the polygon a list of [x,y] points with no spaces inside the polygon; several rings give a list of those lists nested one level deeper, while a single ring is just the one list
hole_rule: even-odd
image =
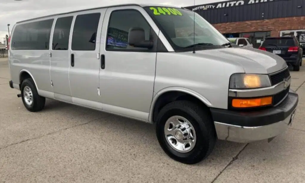
[{"label": "red brick wall band below the dark auto dealership facade", "polygon": [[305,29],[305,16],[218,23],[213,26],[221,33],[271,31],[271,36],[274,37],[279,36],[281,30]]}]

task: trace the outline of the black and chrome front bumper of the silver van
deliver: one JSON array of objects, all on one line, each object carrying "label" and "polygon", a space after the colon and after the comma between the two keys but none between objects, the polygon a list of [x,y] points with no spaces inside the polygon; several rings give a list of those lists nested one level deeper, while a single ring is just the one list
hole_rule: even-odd
[{"label": "black and chrome front bumper of the silver van", "polygon": [[270,139],[291,125],[299,96],[293,90],[281,104],[262,111],[239,112],[211,109],[217,137],[239,143]]}]

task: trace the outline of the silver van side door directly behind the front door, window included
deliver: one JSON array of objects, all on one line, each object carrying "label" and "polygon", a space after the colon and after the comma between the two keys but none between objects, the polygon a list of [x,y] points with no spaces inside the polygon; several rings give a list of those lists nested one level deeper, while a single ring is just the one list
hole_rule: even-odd
[{"label": "silver van side door directly behind the front door, window included", "polygon": [[77,13],[70,50],[70,89],[76,104],[102,109],[98,101],[99,41],[105,9]]}]

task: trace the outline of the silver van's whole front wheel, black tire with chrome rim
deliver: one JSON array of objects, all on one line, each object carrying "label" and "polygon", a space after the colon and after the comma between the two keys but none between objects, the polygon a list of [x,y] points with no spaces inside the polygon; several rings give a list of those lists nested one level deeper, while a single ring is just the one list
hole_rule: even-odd
[{"label": "silver van's whole front wheel, black tire with chrome rim", "polygon": [[155,123],[163,151],[184,164],[196,164],[208,157],[216,143],[209,112],[198,105],[178,100],[164,106]]}]

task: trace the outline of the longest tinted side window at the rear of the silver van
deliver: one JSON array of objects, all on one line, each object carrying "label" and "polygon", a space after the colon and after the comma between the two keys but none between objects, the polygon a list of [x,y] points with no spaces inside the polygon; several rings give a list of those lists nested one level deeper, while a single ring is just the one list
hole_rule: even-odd
[{"label": "longest tinted side window at the rear of the silver van", "polygon": [[54,19],[16,25],[11,41],[12,50],[48,50]]}]

